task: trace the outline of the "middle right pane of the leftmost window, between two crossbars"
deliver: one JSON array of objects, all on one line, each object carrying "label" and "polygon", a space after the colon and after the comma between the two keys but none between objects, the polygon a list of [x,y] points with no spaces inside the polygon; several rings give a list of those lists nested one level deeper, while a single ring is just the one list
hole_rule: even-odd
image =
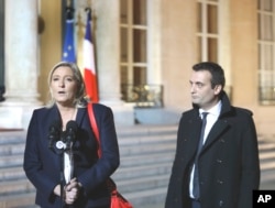
[{"label": "middle right pane of the leftmost window, between two crossbars", "polygon": [[146,31],[133,31],[133,61],[134,63],[146,62]]}]

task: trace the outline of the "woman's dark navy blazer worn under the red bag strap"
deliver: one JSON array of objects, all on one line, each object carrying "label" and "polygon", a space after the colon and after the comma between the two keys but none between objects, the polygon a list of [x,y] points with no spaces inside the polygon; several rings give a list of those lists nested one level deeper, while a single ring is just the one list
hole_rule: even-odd
[{"label": "woman's dark navy blazer worn under the red bag strap", "polygon": [[[119,146],[109,107],[94,105],[102,157],[98,160],[97,141],[92,132],[87,108],[78,108],[78,124],[74,150],[74,176],[82,185],[81,195],[74,207],[109,206],[110,195],[106,180],[120,163]],[[54,187],[61,182],[62,154],[48,147],[50,125],[61,119],[56,106],[33,111],[26,135],[23,168],[36,188],[35,202],[43,208],[59,208],[61,199],[53,195]]]}]

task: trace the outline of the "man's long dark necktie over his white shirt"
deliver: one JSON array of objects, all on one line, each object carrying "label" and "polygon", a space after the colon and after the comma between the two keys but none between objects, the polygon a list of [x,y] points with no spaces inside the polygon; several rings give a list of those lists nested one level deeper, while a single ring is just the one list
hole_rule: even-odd
[{"label": "man's long dark necktie over his white shirt", "polygon": [[198,150],[195,157],[195,169],[194,169],[194,179],[193,179],[193,196],[195,199],[199,199],[199,174],[198,174],[198,157],[201,151],[201,147],[204,145],[204,136],[205,136],[205,129],[207,123],[207,114],[208,112],[202,112],[202,123],[201,123],[201,130],[200,130],[200,138],[199,138],[199,144]]}]

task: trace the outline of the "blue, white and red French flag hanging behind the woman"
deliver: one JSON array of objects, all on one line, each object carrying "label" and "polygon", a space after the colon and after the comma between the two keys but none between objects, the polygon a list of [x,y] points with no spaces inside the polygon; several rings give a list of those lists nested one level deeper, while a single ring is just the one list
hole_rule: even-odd
[{"label": "blue, white and red French flag hanging behind the woman", "polygon": [[91,10],[87,12],[86,33],[84,39],[84,80],[90,101],[98,102],[98,81],[95,64],[95,50],[91,37]]}]

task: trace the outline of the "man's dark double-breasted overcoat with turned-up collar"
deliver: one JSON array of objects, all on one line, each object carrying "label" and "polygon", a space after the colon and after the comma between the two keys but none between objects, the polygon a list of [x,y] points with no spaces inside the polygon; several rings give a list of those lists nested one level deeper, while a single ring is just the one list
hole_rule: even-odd
[{"label": "man's dark double-breasted overcoat with turned-up collar", "polygon": [[[252,112],[230,106],[224,94],[220,117],[199,156],[202,208],[252,208],[252,190],[258,188],[257,135]],[[189,175],[198,145],[198,108],[183,113],[172,168],[166,208],[190,208]]]}]

